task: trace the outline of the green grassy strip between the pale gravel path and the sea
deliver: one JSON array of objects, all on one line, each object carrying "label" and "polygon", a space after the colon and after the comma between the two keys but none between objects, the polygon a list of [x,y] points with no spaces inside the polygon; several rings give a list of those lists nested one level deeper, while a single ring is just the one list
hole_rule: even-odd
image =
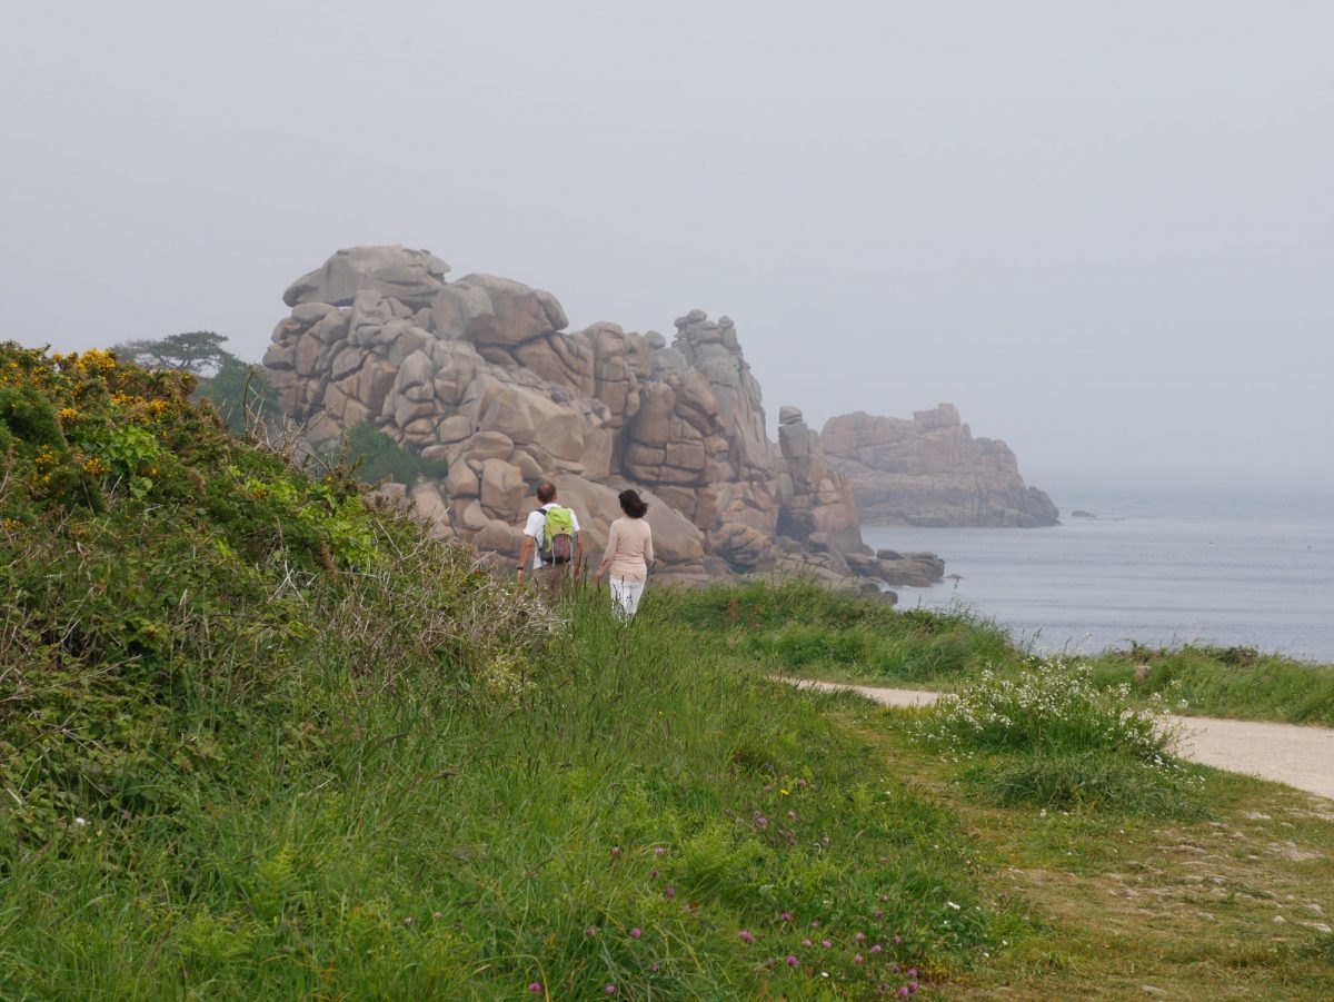
[{"label": "green grassy strip between the pale gravel path and the sea", "polygon": [[[968,610],[896,612],[814,582],[714,586],[675,599],[692,626],[774,674],[951,690],[984,671],[1019,678],[1033,655]],[[1133,647],[1079,659],[1102,688],[1175,712],[1334,726],[1334,667],[1246,647]]]}]

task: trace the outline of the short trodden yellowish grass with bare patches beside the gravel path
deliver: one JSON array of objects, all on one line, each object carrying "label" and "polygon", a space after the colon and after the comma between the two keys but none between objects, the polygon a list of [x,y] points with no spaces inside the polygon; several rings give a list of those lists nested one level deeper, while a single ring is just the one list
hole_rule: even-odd
[{"label": "short trodden yellowish grass with bare patches beside the gravel path", "polygon": [[[828,700],[827,696],[811,696]],[[979,893],[1022,935],[938,989],[942,998],[1278,998],[1334,993],[1334,810],[1199,769],[1205,815],[979,797],[968,766],[922,754],[923,711],[844,698],[827,712],[952,811]],[[1090,759],[1094,765],[1097,759]],[[1282,919],[1282,921],[1278,921]]]}]

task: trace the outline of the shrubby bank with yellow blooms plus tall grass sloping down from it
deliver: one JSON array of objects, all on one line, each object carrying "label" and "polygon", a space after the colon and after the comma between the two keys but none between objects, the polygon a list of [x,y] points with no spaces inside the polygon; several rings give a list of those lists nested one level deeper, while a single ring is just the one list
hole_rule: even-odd
[{"label": "shrubby bank with yellow blooms plus tall grass sloping down from it", "polygon": [[3,994],[856,997],[1023,929],[666,603],[556,616],[185,374],[0,370]]}]

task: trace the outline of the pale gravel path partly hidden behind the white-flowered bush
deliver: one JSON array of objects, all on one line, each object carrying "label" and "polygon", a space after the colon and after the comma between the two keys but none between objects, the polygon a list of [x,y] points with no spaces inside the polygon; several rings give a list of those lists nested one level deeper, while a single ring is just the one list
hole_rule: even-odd
[{"label": "pale gravel path partly hidden behind the white-flowered bush", "polygon": [[[823,692],[851,690],[886,706],[927,706],[939,692],[914,688],[844,686],[786,679]],[[1169,716],[1181,736],[1182,758],[1230,773],[1245,773],[1334,801],[1334,730],[1291,723],[1222,720],[1215,716]]]}]

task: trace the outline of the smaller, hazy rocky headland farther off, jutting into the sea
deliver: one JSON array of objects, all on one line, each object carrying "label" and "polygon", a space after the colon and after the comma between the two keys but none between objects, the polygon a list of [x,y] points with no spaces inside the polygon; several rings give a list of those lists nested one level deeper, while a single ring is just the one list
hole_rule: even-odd
[{"label": "smaller, hazy rocky headland farther off, jutting into the sea", "polygon": [[858,511],[882,526],[1054,526],[1059,512],[1025,484],[1010,447],[975,439],[952,404],[912,420],[846,414],[820,434],[828,466],[846,474]]}]

